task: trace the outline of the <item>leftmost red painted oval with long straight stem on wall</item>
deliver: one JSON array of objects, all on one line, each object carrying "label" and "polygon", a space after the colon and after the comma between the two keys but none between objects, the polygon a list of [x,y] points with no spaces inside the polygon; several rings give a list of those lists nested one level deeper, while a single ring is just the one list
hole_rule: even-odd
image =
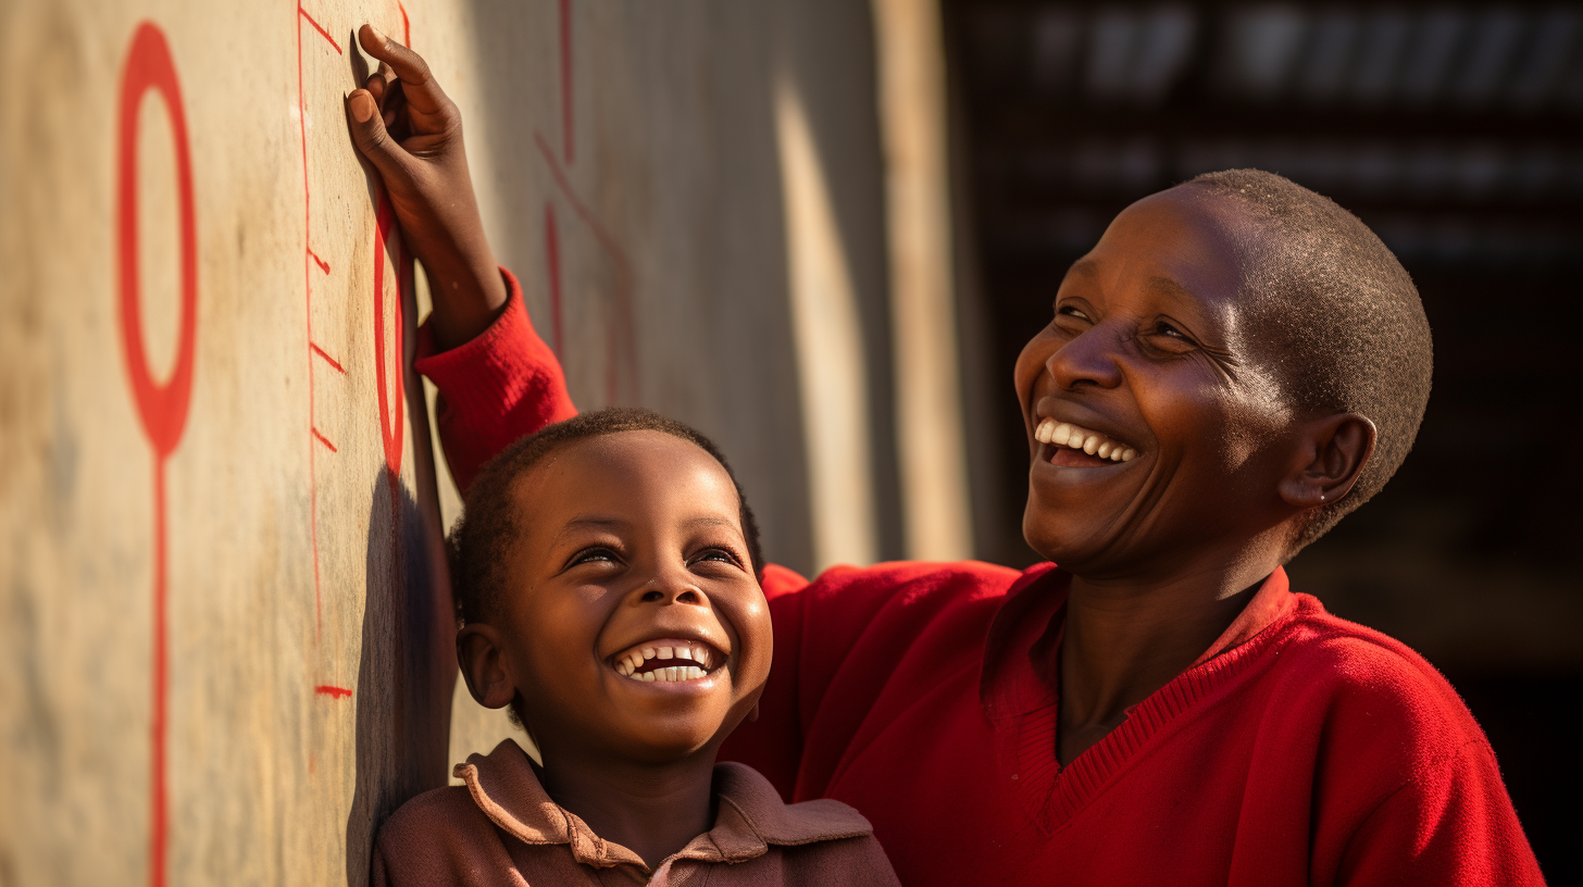
[{"label": "leftmost red painted oval with long straight stem on wall", "polygon": [[[154,90],[165,101],[176,146],[176,198],[180,234],[180,331],[176,336],[176,371],[168,382],[154,382],[142,348],[141,287],[138,282],[138,106]],[[149,882],[165,885],[166,860],[166,776],[165,733],[168,713],[169,635],[166,624],[168,535],[165,504],[165,463],[176,451],[187,428],[192,402],[193,356],[198,326],[198,223],[193,209],[192,154],[187,143],[187,116],[176,63],[165,33],[142,22],[133,33],[120,74],[120,119],[117,130],[117,247],[120,266],[120,334],[127,379],[138,404],[142,432],[154,450],[154,718],[150,727],[150,811]]]}]

